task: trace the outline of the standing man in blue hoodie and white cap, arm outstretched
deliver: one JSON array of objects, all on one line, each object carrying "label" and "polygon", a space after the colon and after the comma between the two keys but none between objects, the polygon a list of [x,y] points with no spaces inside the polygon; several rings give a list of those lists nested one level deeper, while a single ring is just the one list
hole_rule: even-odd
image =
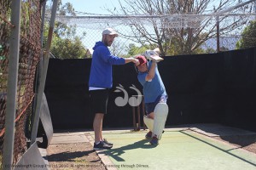
[{"label": "standing man in blue hoodie and white cap, arm outstretched", "polygon": [[111,149],[113,146],[102,137],[103,116],[107,114],[108,89],[113,86],[112,65],[124,65],[130,62],[138,65],[138,59],[119,58],[110,53],[108,47],[111,46],[115,37],[118,37],[117,32],[112,28],[106,28],[102,31],[102,41],[96,42],[93,48],[89,91],[91,111],[95,114],[93,121],[94,150]]}]

